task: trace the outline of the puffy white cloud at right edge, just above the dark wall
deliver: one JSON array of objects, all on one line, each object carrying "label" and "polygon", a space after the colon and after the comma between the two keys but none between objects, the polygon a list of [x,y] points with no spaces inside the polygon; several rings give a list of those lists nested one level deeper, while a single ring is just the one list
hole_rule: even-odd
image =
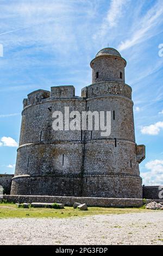
[{"label": "puffy white cloud at right edge, just above the dark wall", "polygon": [[141,173],[143,184],[163,185],[163,160],[153,160],[145,164],[147,172]]}]

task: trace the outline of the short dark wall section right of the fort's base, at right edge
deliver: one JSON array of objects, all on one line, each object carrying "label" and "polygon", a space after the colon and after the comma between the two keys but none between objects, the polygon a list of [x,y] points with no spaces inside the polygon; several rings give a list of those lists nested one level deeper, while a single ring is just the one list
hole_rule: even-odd
[{"label": "short dark wall section right of the fort's base, at right edge", "polygon": [[142,191],[143,191],[143,198],[159,199],[159,193],[160,193],[160,196],[163,197],[163,186],[143,186]]}]

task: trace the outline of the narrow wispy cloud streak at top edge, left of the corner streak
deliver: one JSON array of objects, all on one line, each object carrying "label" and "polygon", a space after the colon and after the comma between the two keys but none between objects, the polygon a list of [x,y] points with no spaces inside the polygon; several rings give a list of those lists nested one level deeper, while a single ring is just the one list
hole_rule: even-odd
[{"label": "narrow wispy cloud streak at top edge, left of the corner streak", "polygon": [[97,35],[104,36],[108,32],[109,28],[117,26],[117,23],[123,13],[123,7],[128,1],[129,0],[111,0],[106,17],[103,19],[99,32],[93,36],[94,39],[97,38]]}]

